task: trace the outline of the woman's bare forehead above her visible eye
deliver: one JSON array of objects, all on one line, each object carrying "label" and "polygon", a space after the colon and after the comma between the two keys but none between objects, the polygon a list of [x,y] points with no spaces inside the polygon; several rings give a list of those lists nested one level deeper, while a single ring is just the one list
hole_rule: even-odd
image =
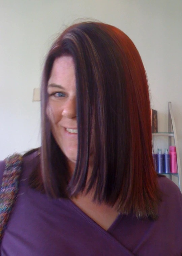
[{"label": "woman's bare forehead above her visible eye", "polygon": [[49,83],[75,81],[75,67],[71,56],[61,56],[55,59]]}]

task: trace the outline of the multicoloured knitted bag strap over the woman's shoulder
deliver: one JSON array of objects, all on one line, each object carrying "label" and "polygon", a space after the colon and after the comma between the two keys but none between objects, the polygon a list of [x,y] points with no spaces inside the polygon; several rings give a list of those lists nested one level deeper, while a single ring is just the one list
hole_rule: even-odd
[{"label": "multicoloured knitted bag strap over the woman's shoulder", "polygon": [[13,154],[5,160],[2,185],[0,190],[0,243],[8,219],[17,199],[19,189],[19,178],[22,170],[22,156]]}]

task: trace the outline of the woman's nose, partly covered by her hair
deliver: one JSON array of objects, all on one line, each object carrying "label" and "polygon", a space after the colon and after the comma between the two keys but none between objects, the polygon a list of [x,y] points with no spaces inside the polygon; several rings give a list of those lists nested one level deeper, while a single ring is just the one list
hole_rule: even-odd
[{"label": "woman's nose, partly covered by her hair", "polygon": [[62,116],[74,119],[77,116],[76,97],[68,98],[64,104]]}]

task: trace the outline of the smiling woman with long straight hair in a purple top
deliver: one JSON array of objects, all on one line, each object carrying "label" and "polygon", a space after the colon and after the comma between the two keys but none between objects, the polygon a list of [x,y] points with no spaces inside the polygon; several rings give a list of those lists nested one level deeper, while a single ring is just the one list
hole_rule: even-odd
[{"label": "smiling woman with long straight hair in a purple top", "polygon": [[41,124],[2,255],[182,255],[182,195],[154,170],[146,73],[126,34],[83,22],[58,37]]}]

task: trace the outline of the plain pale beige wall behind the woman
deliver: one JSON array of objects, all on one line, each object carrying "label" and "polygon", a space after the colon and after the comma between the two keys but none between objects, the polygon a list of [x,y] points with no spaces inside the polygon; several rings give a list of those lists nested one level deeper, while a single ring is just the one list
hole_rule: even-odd
[{"label": "plain pale beige wall behind the woman", "polygon": [[57,32],[85,17],[115,25],[133,40],[160,131],[167,130],[167,102],[173,103],[182,158],[181,13],[181,0],[0,0],[0,159],[39,145],[40,109],[32,95],[44,54]]}]

